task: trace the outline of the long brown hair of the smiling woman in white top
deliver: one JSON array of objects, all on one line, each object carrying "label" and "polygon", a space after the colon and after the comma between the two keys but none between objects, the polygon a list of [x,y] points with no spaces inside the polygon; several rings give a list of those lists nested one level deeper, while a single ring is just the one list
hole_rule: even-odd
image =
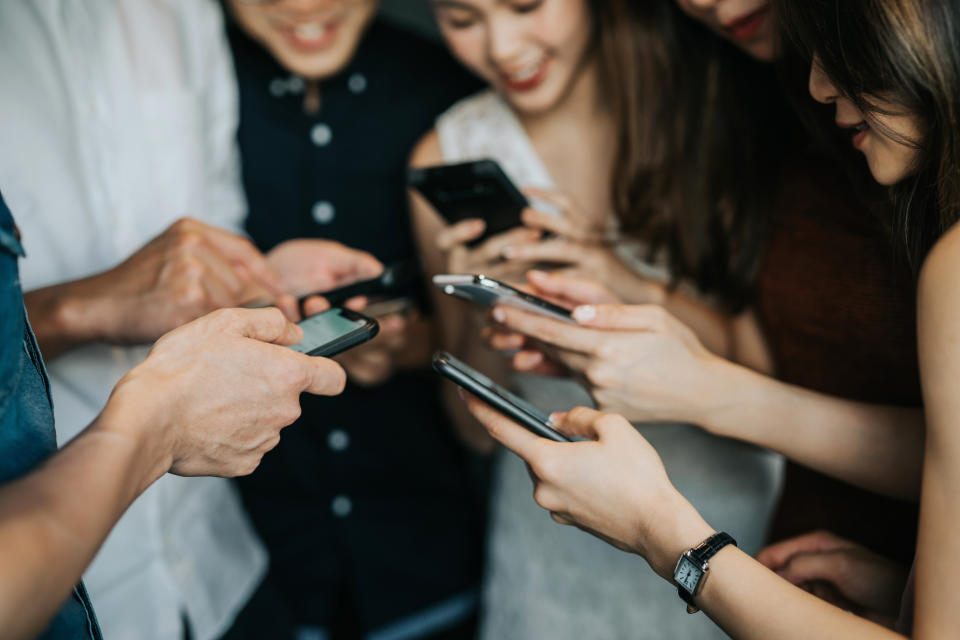
[{"label": "long brown hair of the smiling woman in white top", "polygon": [[612,183],[626,232],[676,281],[746,306],[783,144],[797,127],[772,65],[684,15],[675,0],[591,0],[620,139]]}]

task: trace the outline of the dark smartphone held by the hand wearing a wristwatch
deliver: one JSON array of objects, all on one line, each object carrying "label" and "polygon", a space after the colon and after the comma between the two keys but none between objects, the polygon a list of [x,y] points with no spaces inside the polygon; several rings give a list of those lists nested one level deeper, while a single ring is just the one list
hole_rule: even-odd
[{"label": "dark smartphone held by the hand wearing a wristwatch", "polygon": [[433,368],[440,375],[452,380],[538,436],[555,442],[573,442],[554,428],[553,423],[550,422],[550,416],[449,353],[440,351],[434,354]]}]

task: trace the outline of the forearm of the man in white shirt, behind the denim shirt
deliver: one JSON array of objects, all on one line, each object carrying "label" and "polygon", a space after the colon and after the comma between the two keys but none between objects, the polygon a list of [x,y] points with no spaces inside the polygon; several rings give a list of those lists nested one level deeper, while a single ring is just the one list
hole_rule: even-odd
[{"label": "forearm of the man in white shirt, behind the denim shirt", "polygon": [[46,360],[105,338],[109,315],[96,295],[96,276],[30,291],[24,295],[30,324]]}]

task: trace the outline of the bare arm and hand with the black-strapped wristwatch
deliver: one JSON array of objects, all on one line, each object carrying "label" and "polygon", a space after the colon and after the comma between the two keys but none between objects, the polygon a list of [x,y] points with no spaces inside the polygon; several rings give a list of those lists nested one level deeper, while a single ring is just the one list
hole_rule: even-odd
[{"label": "bare arm and hand with the black-strapped wristwatch", "polygon": [[[556,416],[561,429],[587,439],[560,444],[538,438],[477,400],[470,407],[497,440],[526,460],[534,498],[554,520],[643,556],[665,581],[672,582],[684,551],[714,533],[670,484],[653,448],[622,417],[582,407]],[[710,560],[696,602],[738,640],[902,638],[793,586],[735,547]],[[676,606],[683,606],[679,598]],[[683,627],[674,635],[684,637]]]}]

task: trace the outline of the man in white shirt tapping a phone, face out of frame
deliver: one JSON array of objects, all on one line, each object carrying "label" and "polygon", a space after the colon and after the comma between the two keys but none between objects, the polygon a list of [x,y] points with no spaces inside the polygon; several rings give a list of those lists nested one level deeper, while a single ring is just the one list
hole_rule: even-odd
[{"label": "man in white shirt tapping a phone, face out of frame", "polygon": [[[124,345],[221,306],[289,309],[284,293],[380,268],[323,241],[264,257],[229,233],[245,215],[230,64],[213,0],[0,3],[0,185],[30,257],[21,277],[61,444],[146,356]],[[208,640],[265,566],[226,481],[165,476],[85,580],[106,637]]]}]

